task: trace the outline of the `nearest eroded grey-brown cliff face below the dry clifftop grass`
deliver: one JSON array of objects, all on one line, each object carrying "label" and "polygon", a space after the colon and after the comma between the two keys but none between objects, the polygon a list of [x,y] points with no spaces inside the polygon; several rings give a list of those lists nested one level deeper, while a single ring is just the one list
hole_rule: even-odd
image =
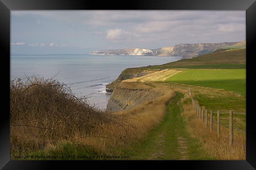
[{"label": "nearest eroded grey-brown cliff face below the dry clifftop grass", "polygon": [[121,82],[108,100],[107,110],[118,112],[132,109],[142,103],[165,95],[161,88],[154,88],[139,82]]}]

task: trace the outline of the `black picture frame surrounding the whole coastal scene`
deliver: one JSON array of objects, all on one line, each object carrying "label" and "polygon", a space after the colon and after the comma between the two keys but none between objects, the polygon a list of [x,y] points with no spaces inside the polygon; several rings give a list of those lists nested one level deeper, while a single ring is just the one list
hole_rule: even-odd
[{"label": "black picture frame surrounding the whole coastal scene", "polygon": [[[9,80],[10,80],[10,10],[246,10],[246,161],[14,161],[10,160],[10,119],[9,119]],[[256,123],[253,106],[254,88],[250,74],[255,55],[256,39],[256,2],[255,0],[130,0],[130,1],[84,1],[84,0],[0,0],[0,44],[2,47],[2,99],[0,118],[0,168],[2,169],[58,169],[82,166],[88,168],[133,168],[133,163],[144,163],[143,167],[158,168],[185,166],[191,169],[232,169],[256,168]],[[8,69],[9,67],[9,69]],[[251,72],[251,73],[250,73]],[[122,165],[120,165],[122,164]],[[120,167],[121,166],[121,167]]]}]

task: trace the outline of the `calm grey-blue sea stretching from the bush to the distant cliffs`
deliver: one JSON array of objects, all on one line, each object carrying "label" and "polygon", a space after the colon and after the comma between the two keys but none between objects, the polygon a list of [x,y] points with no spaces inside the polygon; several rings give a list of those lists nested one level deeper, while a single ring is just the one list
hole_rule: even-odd
[{"label": "calm grey-blue sea stretching from the bush to the distant cliffs", "polygon": [[128,67],[158,65],[179,60],[170,56],[101,56],[101,55],[12,55],[11,79],[39,75],[56,78],[78,97],[105,109],[111,94],[105,85],[114,81]]}]

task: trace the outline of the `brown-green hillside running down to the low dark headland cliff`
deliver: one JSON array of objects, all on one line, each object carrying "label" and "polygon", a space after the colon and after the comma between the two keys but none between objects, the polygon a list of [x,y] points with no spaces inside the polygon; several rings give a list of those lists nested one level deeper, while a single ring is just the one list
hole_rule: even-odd
[{"label": "brown-green hillside running down to the low dark headland cliff", "polygon": [[113,90],[122,80],[140,77],[160,69],[245,69],[245,61],[245,49],[233,49],[223,52],[205,54],[192,59],[182,59],[163,65],[128,68],[122,71],[122,73],[115,81],[109,85],[106,85],[106,88]]}]

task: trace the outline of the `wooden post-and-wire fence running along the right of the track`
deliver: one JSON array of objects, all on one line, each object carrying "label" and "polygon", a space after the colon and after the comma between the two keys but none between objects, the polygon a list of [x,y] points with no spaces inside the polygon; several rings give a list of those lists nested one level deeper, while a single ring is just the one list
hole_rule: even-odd
[{"label": "wooden post-and-wire fence running along the right of the track", "polygon": [[[202,123],[204,123],[205,121],[205,126],[208,127],[208,112],[210,112],[210,130],[212,130],[213,128],[213,123],[216,123],[217,124],[217,134],[218,134],[218,137],[221,136],[221,125],[223,127],[226,127],[226,128],[229,128],[229,145],[232,145],[232,144],[236,144],[237,146],[241,146],[243,148],[246,148],[242,145],[240,145],[239,143],[237,143],[236,141],[234,141],[234,129],[236,130],[239,130],[241,132],[246,132],[246,130],[242,130],[242,129],[239,129],[239,128],[236,128],[233,126],[233,115],[234,114],[245,114],[246,113],[239,113],[239,112],[233,112],[233,110],[230,110],[230,112],[220,112],[219,110],[217,110],[217,112],[215,111],[212,111],[212,110],[207,110],[205,109],[204,107],[201,107],[200,105],[198,105],[195,101],[195,99],[193,99],[193,95],[192,95],[192,91],[190,89],[189,86],[186,86],[186,85],[177,85],[177,84],[171,84],[171,83],[161,83],[161,82],[158,82],[158,81],[152,81],[152,80],[145,80],[143,79],[143,82],[150,82],[150,83],[157,83],[157,84],[160,84],[160,85],[164,85],[164,86],[169,86],[169,87],[176,87],[177,89],[181,89],[181,90],[187,90],[187,92],[189,93],[189,95],[191,96],[191,103],[192,103],[192,106],[193,106],[193,109],[195,110],[195,113],[197,115],[198,118],[202,119]],[[217,121],[213,120],[213,114],[212,113],[217,113]],[[228,113],[229,114],[229,126],[227,125],[223,125],[221,124],[221,119],[220,119],[220,114],[221,113]],[[205,116],[205,118],[204,118]]]}]

